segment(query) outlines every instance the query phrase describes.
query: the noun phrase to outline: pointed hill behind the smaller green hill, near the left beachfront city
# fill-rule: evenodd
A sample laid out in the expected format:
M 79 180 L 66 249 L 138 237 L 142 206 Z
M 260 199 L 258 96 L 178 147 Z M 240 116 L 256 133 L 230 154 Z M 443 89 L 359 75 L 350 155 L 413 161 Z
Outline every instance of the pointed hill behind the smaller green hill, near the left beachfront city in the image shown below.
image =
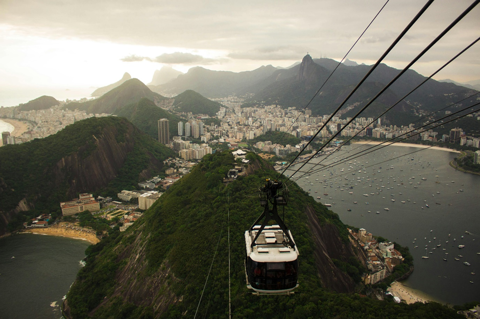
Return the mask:
M 154 102 L 167 99 L 160 94 L 150 91 L 139 79 L 132 78 L 113 90 L 108 91 L 98 99 L 89 100 L 84 103 L 68 103 L 65 108 L 70 110 L 83 110 L 94 114 L 112 114 L 126 105 L 138 102 L 142 97 L 146 97 Z

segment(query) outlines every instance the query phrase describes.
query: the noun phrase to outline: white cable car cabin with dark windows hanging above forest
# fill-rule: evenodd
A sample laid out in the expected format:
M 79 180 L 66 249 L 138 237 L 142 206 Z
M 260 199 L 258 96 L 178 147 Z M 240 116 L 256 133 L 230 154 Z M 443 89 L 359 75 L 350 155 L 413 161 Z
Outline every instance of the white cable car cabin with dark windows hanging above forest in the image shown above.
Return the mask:
M 247 288 L 255 290 L 254 294 L 293 294 L 298 287 L 298 249 L 285 246 L 285 235 L 278 225 L 266 226 L 254 245 L 260 226 L 245 232 L 247 256 L 245 271 Z M 288 231 L 290 238 L 292 233 Z

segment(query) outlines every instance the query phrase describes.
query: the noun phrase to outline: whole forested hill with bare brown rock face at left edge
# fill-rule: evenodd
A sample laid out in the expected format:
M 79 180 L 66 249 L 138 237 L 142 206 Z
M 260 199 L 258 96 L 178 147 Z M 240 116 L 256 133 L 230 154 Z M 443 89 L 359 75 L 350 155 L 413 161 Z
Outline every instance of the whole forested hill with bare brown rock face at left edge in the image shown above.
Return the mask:
M 57 134 L 0 148 L 0 234 L 20 210 L 57 211 L 79 193 L 132 189 L 173 152 L 124 118 L 89 118 Z

